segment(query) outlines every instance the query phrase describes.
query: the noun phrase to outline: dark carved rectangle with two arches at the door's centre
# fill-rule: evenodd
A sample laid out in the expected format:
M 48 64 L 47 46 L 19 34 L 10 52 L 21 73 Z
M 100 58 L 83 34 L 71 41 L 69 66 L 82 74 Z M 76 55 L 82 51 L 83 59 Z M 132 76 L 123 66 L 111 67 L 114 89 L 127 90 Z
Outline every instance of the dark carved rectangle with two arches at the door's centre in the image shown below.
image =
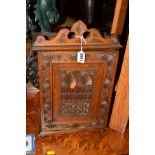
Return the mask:
M 60 117 L 88 116 L 95 91 L 96 68 L 58 68 L 58 94 Z M 91 73 L 90 73 L 91 72 Z M 92 75 L 93 74 L 93 75 Z

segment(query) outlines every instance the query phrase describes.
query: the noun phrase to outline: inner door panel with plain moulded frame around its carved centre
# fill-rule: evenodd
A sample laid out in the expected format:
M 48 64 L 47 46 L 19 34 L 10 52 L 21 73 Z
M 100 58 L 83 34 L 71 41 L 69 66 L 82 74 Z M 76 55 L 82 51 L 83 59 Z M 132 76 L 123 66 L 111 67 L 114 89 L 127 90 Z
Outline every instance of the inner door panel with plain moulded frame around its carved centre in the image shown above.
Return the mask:
M 101 64 L 53 64 L 53 122 L 97 120 Z

